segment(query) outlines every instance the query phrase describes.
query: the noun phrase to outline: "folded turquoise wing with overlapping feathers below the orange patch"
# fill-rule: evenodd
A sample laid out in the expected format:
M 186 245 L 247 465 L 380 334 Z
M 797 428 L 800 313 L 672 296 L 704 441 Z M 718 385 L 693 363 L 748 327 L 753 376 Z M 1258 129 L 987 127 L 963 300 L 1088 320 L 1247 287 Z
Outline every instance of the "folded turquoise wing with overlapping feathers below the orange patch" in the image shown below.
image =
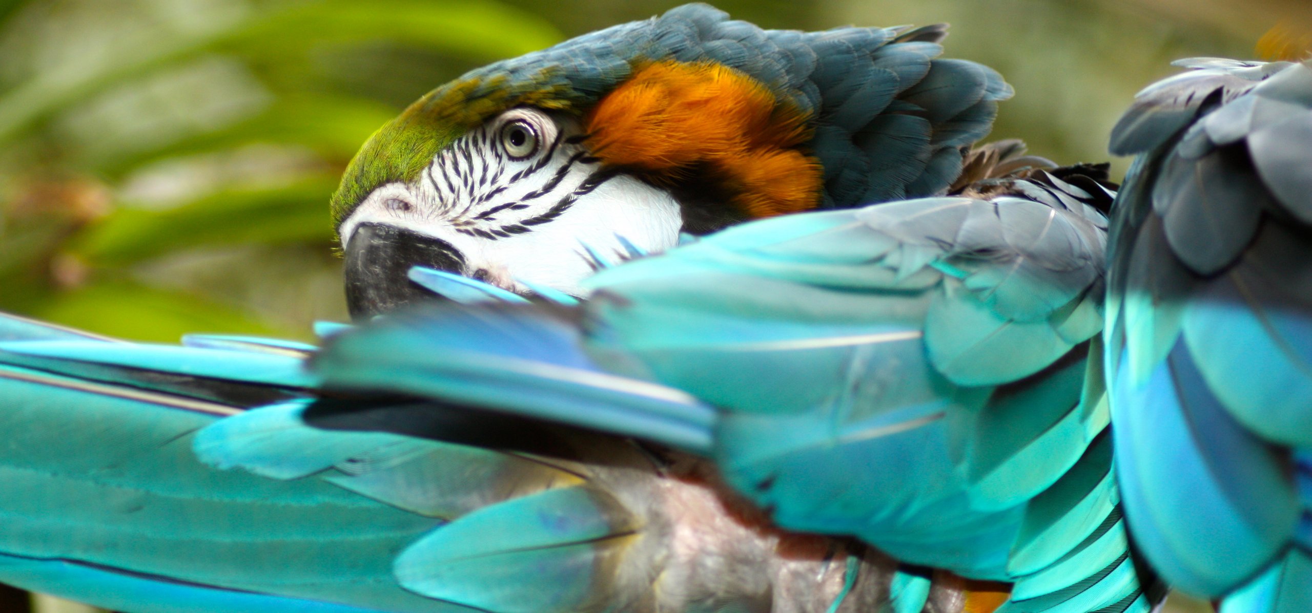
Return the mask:
M 1072 198 L 1089 196 L 1065 189 Z M 731 483 L 773 508 L 782 525 L 855 533 L 913 563 L 1014 580 L 1021 570 L 1036 572 L 1084 546 L 1115 503 L 1107 498 L 1103 444 L 1096 462 L 1101 498 L 1080 498 L 1096 508 L 1052 494 L 1071 502 L 1061 510 L 1069 515 L 1047 511 L 1048 523 L 1022 528 L 1031 500 L 1057 491 L 1055 483 L 1107 424 L 1101 392 L 1082 386 L 1084 354 L 1073 352 L 1098 331 L 1097 293 L 1089 288 L 1101 280 L 1105 223 L 1092 208 L 1050 202 L 941 198 L 729 229 L 596 276 L 590 341 L 632 354 L 657 379 L 724 407 L 715 457 Z M 997 224 L 1000 212 L 1015 221 Z M 1052 215 L 1057 224 L 1027 224 Z M 991 266 L 1010 272 L 989 276 Z M 981 279 L 974 288 L 958 280 L 972 275 Z M 1056 297 L 1036 301 L 1044 292 Z M 935 317 L 939 304 L 974 304 L 992 314 L 985 324 L 955 312 Z M 1025 326 L 1042 337 L 1025 335 Z M 992 352 L 980 351 L 981 359 L 955 368 L 958 362 L 935 360 L 947 354 L 935 354 L 935 342 L 996 337 L 1000 329 L 1001 339 Z M 1000 354 L 1009 358 L 998 360 Z M 1068 354 L 1069 362 L 1047 371 Z M 887 364 L 899 368 L 886 372 Z M 1008 393 L 977 388 L 1017 380 L 1025 382 Z M 1043 407 L 1025 410 L 1031 403 Z M 983 415 L 997 419 L 1006 436 L 976 430 Z M 1018 428 L 1018 420 L 1033 422 Z M 1013 574 L 1009 555 L 1022 529 L 1061 538 L 1052 538 L 1047 553 L 1029 554 L 1035 562 Z M 1050 600 L 1110 604 L 1136 596 L 1138 579 L 1127 578 L 1139 575 L 1118 566 L 1123 555 L 1120 541 L 1111 561 L 1088 558 L 1096 566 L 1078 568 L 1077 579 L 1102 571 L 1111 579 L 1093 582 L 1093 592 L 1075 588 Z M 1071 578 L 1063 589 L 1076 582 Z

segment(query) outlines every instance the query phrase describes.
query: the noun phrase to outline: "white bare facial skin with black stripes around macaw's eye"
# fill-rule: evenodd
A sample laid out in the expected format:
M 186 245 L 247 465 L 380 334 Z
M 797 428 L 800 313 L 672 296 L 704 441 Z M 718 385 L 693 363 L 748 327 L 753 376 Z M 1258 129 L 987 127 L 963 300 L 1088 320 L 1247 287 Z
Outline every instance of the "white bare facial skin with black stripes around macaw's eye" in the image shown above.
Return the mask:
M 466 276 L 525 292 L 522 282 L 583 295 L 584 245 L 618 261 L 619 237 L 647 253 L 678 242 L 682 215 L 666 191 L 602 168 L 576 122 L 512 109 L 440 152 L 412 183 L 379 186 L 338 228 L 345 248 L 374 223 L 451 244 Z

